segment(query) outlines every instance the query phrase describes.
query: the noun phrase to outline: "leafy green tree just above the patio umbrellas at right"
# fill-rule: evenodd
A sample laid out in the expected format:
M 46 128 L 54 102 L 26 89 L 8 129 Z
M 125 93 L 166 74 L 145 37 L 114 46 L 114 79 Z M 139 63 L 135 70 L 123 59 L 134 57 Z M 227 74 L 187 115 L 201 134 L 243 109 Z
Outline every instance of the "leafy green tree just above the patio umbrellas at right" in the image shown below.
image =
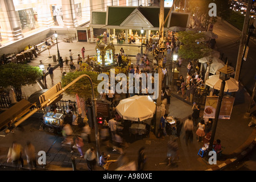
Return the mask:
M 185 60 L 197 60 L 209 54 L 210 49 L 204 43 L 204 35 L 194 31 L 179 32 L 181 46 L 178 55 Z

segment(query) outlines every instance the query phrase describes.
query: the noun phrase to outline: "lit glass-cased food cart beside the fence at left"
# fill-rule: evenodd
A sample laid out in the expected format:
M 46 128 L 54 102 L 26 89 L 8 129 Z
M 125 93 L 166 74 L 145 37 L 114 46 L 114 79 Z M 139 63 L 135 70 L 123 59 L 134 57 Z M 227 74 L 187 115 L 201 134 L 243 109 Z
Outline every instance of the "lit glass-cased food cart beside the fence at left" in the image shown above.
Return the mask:
M 50 133 L 61 132 L 63 127 L 64 117 L 63 114 L 48 112 L 43 115 L 43 127 L 47 127 Z

